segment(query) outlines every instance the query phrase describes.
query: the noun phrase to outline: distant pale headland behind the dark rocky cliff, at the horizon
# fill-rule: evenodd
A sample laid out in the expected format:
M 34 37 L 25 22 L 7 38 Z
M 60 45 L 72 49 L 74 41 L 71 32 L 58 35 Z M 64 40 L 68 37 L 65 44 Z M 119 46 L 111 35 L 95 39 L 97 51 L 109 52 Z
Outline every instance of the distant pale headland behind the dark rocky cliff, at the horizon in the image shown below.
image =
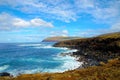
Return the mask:
M 72 39 L 79 39 L 80 37 L 48 37 L 44 39 L 42 42 L 60 42 L 60 41 L 66 41 L 66 40 L 72 40 Z

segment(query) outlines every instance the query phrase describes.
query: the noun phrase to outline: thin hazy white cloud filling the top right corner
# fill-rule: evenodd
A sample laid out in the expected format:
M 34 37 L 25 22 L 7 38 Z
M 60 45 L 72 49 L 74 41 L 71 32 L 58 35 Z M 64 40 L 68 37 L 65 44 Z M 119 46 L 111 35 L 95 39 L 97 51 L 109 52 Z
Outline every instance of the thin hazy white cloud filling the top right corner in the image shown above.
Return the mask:
M 113 22 L 120 16 L 120 1 L 99 1 L 99 0 L 76 0 L 76 7 L 79 13 L 90 14 L 94 21 Z M 119 19 L 120 20 L 120 19 Z

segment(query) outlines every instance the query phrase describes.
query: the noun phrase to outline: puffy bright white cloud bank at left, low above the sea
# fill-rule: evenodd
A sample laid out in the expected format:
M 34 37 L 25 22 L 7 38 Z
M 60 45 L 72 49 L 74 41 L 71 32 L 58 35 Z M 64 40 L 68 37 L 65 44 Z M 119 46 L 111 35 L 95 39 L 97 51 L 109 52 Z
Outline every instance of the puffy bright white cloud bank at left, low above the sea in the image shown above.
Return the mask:
M 0 14 L 0 24 L 1 30 L 10 30 L 23 27 L 54 27 L 51 22 L 44 21 L 40 18 L 24 20 L 7 13 Z

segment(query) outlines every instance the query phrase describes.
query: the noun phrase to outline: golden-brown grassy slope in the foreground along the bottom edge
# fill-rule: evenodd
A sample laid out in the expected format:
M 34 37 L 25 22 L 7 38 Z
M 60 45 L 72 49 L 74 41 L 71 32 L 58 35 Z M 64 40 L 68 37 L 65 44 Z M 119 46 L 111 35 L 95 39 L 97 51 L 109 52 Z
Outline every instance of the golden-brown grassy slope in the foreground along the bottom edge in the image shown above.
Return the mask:
M 0 77 L 0 80 L 120 80 L 120 58 L 64 73 L 23 74 L 15 78 Z

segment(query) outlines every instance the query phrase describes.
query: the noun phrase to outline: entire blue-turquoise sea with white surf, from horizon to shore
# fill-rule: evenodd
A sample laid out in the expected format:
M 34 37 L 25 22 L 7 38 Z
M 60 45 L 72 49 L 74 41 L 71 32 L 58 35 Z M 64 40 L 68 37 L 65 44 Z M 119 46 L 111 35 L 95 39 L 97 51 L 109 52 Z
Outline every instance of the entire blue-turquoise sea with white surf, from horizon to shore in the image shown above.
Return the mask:
M 13 75 L 38 72 L 64 72 L 79 67 L 74 57 L 60 53 L 74 52 L 52 47 L 54 43 L 0 43 L 0 72 Z

